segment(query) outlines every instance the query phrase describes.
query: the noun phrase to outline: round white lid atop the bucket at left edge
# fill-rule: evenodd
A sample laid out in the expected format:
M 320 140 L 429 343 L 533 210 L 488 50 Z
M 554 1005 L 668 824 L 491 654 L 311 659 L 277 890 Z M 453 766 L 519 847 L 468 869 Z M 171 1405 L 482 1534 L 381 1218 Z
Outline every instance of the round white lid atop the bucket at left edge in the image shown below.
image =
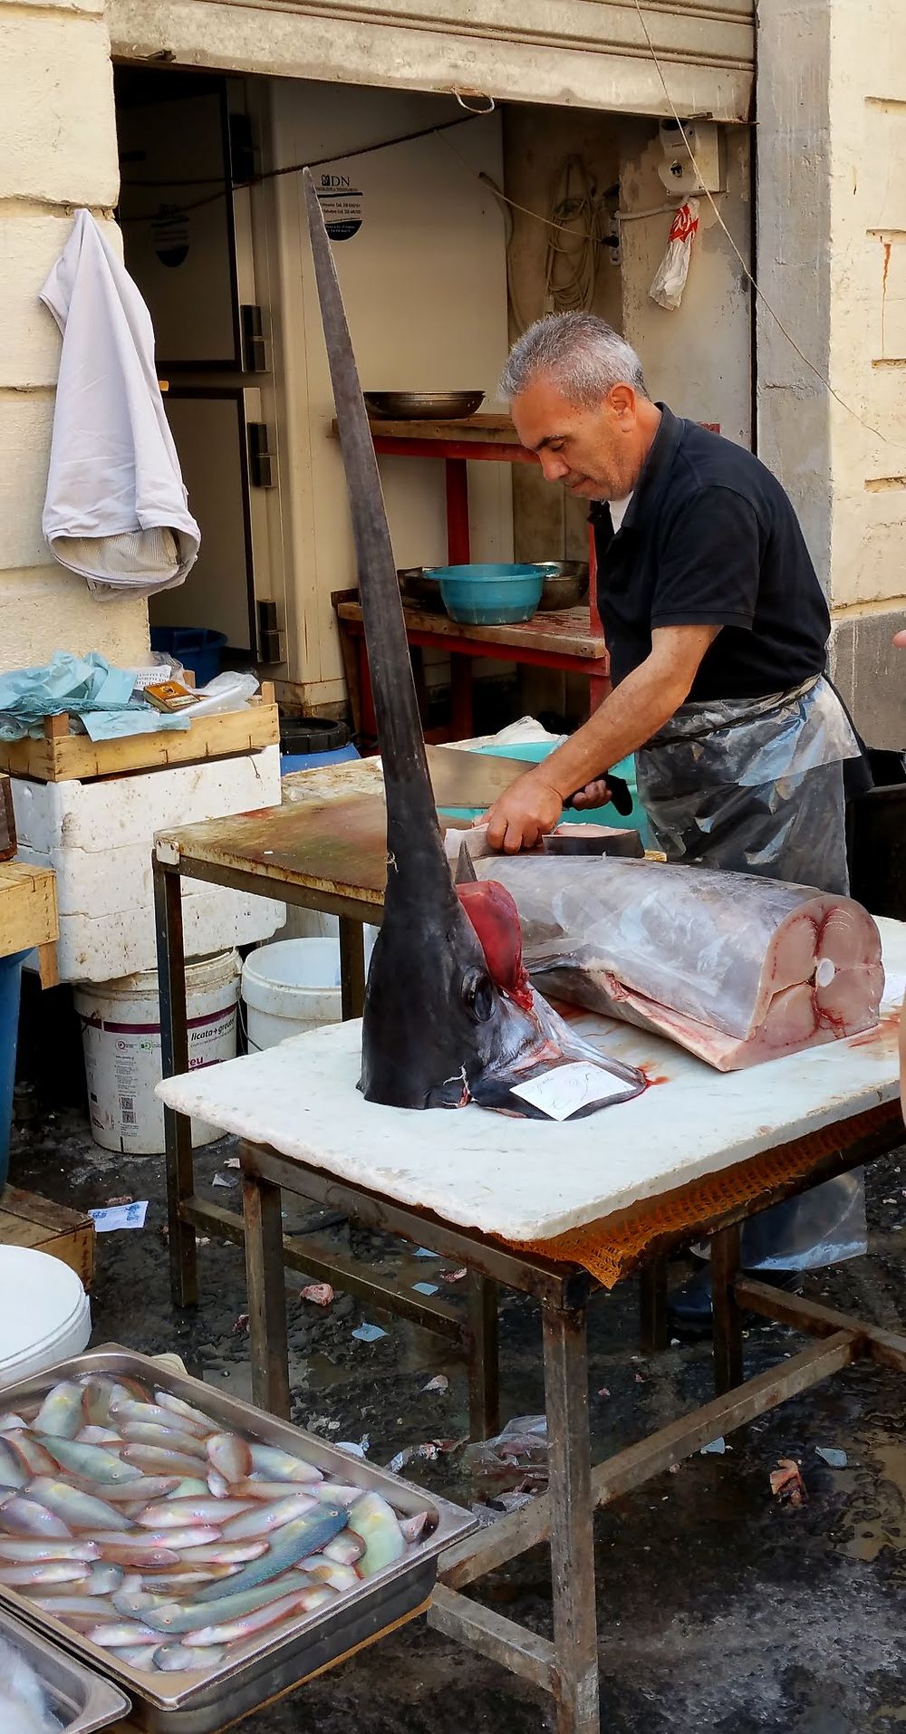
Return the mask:
M 85 1290 L 68 1264 L 33 1247 L 0 1247 L 0 1377 L 66 1339 L 85 1313 Z

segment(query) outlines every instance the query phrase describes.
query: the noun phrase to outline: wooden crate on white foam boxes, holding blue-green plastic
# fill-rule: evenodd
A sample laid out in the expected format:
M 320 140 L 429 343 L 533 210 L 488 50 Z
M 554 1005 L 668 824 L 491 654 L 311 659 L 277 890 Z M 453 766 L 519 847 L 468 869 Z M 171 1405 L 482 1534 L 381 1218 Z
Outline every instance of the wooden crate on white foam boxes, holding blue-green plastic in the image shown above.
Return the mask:
M 118 740 L 89 740 L 69 733 L 68 716 L 47 716 L 38 740 L 0 742 L 0 770 L 36 782 L 85 782 L 121 777 L 128 772 L 160 770 L 167 765 L 196 765 L 203 759 L 255 753 L 279 740 L 279 713 L 272 687 L 245 711 L 196 716 L 189 728 L 165 728 L 153 735 L 121 735 Z

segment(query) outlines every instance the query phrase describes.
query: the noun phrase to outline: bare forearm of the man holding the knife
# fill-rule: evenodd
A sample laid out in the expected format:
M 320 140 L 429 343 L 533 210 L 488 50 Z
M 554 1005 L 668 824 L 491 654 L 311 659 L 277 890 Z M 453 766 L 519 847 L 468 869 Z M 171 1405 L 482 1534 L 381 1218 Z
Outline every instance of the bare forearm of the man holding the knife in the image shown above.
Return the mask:
M 661 669 L 642 662 L 607 694 L 594 716 L 543 761 L 543 780 L 566 801 L 576 789 L 602 777 L 627 753 L 635 753 L 663 728 L 686 699 L 682 685 L 665 681 Z

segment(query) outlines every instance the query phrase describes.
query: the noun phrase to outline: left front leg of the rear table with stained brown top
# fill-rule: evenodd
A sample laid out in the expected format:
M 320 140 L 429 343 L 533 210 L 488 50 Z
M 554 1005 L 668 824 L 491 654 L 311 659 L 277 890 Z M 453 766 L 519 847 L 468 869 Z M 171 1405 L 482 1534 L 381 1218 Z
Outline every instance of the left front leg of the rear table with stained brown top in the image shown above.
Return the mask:
M 163 1077 L 189 1070 L 186 1013 L 186 950 L 182 945 L 182 879 L 154 857 L 154 921 L 158 938 L 160 1046 Z M 198 1306 L 196 1235 L 182 1221 L 181 1203 L 194 1193 L 193 1124 L 184 1113 L 163 1110 L 167 1151 L 167 1222 L 170 1236 L 170 1290 L 174 1304 Z

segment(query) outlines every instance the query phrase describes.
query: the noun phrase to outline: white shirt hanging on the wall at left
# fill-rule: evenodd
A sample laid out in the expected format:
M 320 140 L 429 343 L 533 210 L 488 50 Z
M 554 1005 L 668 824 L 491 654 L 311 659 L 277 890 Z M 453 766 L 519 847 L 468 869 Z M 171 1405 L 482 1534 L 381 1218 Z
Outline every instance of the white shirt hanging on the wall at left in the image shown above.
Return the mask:
M 90 212 L 40 298 L 62 331 L 42 529 L 99 600 L 182 584 L 194 522 L 154 369 L 151 314 Z

